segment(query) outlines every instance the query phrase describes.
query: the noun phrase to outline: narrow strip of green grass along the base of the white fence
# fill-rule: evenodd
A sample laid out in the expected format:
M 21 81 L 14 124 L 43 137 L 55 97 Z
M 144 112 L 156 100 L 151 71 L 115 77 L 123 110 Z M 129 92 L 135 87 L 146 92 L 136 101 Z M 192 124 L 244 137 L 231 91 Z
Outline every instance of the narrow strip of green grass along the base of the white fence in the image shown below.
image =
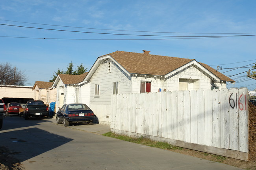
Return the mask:
M 160 149 L 165 149 L 165 150 L 177 150 L 177 149 L 184 150 L 184 148 L 181 148 L 178 146 L 173 146 L 166 142 L 152 141 L 152 140 L 144 138 L 144 137 L 133 138 L 133 137 L 125 136 L 125 135 L 117 135 L 112 132 L 104 133 L 103 135 L 108 136 L 108 137 L 113 137 L 116 139 L 120 139 L 123 141 L 128 141 L 128 142 L 137 143 L 137 144 L 143 144 L 143 145 L 154 147 L 154 148 L 160 148 Z

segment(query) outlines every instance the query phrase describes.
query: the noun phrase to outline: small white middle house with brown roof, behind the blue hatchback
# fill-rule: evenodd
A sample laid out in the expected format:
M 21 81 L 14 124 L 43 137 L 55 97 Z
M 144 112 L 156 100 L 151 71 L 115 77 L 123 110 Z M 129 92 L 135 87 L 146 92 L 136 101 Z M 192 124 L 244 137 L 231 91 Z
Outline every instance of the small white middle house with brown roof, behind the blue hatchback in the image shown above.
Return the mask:
M 89 91 L 88 85 L 78 86 L 78 83 L 82 82 L 87 73 L 83 73 L 81 75 L 68 75 L 68 74 L 59 74 L 52 84 L 52 88 L 56 88 L 56 108 L 61 108 L 63 104 L 68 103 L 85 103 L 89 105 L 89 97 L 86 95 Z M 83 96 L 87 96 L 85 99 Z

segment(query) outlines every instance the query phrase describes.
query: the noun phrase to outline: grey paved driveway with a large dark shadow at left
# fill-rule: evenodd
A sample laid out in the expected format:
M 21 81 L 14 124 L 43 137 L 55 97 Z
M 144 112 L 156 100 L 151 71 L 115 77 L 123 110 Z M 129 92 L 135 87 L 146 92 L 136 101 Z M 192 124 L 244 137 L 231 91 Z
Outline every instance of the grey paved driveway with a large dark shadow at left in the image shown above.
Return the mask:
M 104 124 L 64 127 L 56 119 L 6 117 L 0 144 L 26 170 L 241 170 L 175 152 L 102 136 Z

